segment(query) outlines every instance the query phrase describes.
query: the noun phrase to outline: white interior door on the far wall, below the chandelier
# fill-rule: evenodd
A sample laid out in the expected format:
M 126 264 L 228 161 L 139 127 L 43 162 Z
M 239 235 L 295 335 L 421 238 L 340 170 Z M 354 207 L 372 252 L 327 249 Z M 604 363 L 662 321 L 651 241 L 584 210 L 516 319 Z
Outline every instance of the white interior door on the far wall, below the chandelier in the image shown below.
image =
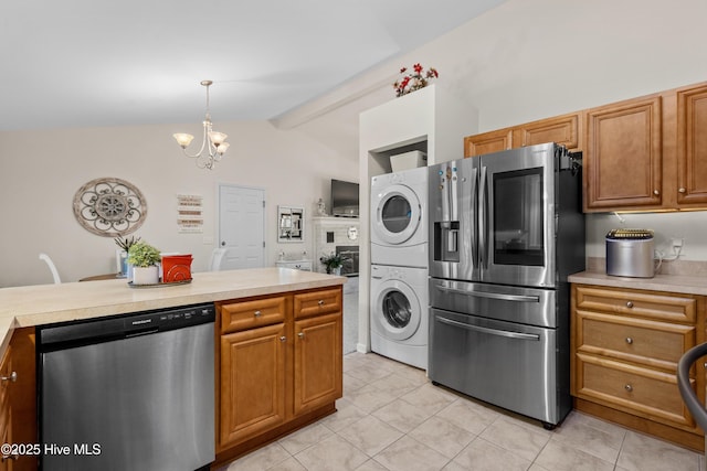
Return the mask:
M 265 266 L 265 190 L 219 185 L 222 270 Z

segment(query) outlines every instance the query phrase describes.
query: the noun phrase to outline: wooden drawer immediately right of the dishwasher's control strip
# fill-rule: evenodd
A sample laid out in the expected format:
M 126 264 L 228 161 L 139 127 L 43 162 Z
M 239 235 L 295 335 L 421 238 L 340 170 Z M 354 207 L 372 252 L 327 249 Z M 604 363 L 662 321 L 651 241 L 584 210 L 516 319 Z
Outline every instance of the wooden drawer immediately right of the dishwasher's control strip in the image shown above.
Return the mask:
M 220 304 L 221 333 L 284 322 L 286 306 L 284 296 Z

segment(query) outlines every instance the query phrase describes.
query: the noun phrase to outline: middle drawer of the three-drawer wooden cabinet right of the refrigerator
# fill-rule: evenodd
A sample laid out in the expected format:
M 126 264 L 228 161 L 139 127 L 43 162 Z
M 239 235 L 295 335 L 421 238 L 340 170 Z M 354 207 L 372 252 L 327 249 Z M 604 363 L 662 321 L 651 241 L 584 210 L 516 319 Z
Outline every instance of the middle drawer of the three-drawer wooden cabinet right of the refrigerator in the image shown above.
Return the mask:
M 693 325 L 671 324 L 577 311 L 577 350 L 651 367 L 677 371 L 683 353 L 695 345 Z

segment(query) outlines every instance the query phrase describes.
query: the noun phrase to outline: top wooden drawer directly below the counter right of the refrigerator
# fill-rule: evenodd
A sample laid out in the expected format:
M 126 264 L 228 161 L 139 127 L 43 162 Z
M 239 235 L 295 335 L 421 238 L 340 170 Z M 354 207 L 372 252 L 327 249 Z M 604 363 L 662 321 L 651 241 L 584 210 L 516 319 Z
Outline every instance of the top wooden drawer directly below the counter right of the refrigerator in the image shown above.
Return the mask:
M 694 323 L 696 306 L 696 300 L 688 296 L 577 287 L 578 310 L 594 310 L 668 322 Z

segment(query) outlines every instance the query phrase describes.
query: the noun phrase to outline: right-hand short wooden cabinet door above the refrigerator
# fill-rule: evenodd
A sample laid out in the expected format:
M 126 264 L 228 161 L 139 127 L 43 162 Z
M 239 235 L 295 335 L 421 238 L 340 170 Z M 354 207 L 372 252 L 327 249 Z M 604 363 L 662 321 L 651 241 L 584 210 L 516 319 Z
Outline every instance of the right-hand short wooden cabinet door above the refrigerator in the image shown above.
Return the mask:
M 579 148 L 580 114 L 558 116 L 520 125 L 514 130 L 514 147 L 557 142 L 568 149 Z

